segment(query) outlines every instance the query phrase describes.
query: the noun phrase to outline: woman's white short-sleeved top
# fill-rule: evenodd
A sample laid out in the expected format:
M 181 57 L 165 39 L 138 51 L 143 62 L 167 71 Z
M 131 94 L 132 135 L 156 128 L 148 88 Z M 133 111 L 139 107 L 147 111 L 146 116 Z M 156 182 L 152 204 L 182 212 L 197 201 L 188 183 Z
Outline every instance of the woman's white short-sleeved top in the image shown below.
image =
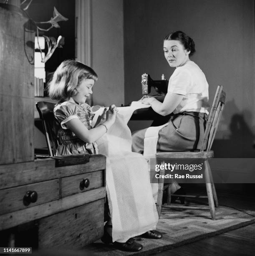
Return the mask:
M 174 114 L 188 111 L 208 113 L 208 83 L 205 74 L 193 61 L 177 67 L 169 78 L 168 92 L 184 95 L 173 111 Z

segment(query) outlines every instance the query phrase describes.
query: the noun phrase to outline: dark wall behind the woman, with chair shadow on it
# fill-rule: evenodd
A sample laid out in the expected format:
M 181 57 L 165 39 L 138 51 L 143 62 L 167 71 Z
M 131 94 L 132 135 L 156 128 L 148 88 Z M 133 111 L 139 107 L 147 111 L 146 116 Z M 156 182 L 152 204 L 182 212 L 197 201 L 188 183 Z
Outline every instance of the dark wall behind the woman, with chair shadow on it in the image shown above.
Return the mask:
M 142 73 L 170 77 L 163 38 L 176 30 L 194 39 L 191 59 L 205 72 L 210 102 L 218 84 L 227 93 L 216 157 L 254 157 L 253 0 L 124 0 L 125 103 L 141 98 Z

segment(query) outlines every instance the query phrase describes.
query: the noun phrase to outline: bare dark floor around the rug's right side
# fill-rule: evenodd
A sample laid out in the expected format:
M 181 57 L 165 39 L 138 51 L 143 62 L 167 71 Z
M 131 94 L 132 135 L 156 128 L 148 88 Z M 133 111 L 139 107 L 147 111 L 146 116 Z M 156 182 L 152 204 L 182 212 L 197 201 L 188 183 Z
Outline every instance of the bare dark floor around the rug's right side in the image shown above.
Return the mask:
M 254 185 L 254 184 L 252 184 Z M 219 203 L 242 210 L 255 210 L 255 198 L 250 196 L 218 193 Z M 255 224 L 229 231 L 227 233 L 205 238 L 197 242 L 162 251 L 157 256 L 241 256 L 255 255 Z

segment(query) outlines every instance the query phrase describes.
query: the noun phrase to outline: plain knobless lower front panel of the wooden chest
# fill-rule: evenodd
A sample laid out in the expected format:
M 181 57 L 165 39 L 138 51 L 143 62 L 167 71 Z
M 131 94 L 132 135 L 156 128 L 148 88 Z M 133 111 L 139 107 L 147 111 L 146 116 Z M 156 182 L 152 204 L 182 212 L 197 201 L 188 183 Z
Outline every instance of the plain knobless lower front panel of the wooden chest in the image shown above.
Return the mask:
M 104 233 L 104 199 L 38 220 L 38 248 L 79 249 Z

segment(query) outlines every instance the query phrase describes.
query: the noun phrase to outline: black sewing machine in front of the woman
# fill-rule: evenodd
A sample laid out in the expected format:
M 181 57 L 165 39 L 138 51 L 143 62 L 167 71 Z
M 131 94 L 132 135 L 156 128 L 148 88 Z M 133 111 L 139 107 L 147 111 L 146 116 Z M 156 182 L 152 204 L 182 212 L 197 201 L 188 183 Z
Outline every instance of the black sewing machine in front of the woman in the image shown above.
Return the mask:
M 143 97 L 146 98 L 147 95 L 151 92 L 151 87 L 154 87 L 155 91 L 158 94 L 167 93 L 168 80 L 164 79 L 164 74 L 162 74 L 161 80 L 151 79 L 149 74 L 141 75 L 141 88 Z

